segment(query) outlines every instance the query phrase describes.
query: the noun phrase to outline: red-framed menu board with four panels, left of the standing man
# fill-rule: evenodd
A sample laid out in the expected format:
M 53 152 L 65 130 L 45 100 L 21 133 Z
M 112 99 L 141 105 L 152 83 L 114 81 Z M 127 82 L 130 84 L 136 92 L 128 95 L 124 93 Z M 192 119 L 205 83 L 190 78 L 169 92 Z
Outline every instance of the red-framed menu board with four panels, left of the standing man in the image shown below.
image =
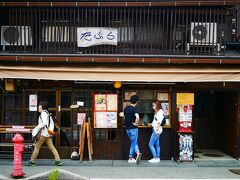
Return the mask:
M 117 128 L 118 95 L 94 95 L 94 128 Z

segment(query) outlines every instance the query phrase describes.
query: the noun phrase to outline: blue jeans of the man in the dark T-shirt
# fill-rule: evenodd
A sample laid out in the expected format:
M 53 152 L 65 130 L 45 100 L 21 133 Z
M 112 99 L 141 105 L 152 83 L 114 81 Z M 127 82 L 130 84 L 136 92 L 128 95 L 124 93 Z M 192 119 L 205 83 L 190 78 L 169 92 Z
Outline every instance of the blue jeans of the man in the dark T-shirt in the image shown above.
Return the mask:
M 138 139 L 138 129 L 126 129 L 127 135 L 131 141 L 131 147 L 130 147 L 130 151 L 129 151 L 129 157 L 133 157 L 134 153 L 139 152 L 139 147 L 138 147 L 138 143 L 137 143 L 137 139 Z

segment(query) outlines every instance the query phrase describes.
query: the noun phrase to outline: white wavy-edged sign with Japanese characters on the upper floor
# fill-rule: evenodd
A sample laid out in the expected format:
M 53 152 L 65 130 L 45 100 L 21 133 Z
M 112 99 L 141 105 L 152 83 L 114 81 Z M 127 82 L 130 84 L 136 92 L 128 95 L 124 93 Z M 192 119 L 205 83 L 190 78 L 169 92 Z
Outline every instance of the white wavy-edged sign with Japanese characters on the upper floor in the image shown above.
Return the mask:
M 96 45 L 117 45 L 116 28 L 77 28 L 78 47 L 89 47 Z

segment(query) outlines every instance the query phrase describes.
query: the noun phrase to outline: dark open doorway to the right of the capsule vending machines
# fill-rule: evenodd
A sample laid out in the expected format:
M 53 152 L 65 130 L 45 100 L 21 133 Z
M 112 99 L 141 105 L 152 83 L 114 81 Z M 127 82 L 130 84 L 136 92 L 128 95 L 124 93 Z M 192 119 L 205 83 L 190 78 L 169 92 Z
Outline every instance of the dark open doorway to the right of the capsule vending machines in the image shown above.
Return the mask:
M 198 159 L 237 155 L 237 93 L 195 93 L 195 156 Z

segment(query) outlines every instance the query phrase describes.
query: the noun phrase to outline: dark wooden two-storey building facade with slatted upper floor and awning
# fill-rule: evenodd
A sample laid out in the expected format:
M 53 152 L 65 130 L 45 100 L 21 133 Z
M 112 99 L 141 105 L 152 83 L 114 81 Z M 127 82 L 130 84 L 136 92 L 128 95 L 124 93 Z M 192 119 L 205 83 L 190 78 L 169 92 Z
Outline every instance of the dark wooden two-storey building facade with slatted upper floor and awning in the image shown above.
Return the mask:
M 151 101 L 165 93 L 169 123 L 161 158 L 177 159 L 176 94 L 191 92 L 195 148 L 239 157 L 240 1 L 11 0 L 0 9 L 1 127 L 36 125 L 29 95 L 48 99 L 63 131 L 55 145 L 69 158 L 79 143 L 77 113 L 94 123 L 93 95 L 118 94 L 121 112 L 126 94 L 135 92 L 144 107 L 139 144 L 148 159 Z M 115 81 L 122 86 L 114 88 Z M 70 109 L 77 101 L 84 106 Z M 117 122 L 117 128 L 93 128 L 95 159 L 127 159 L 123 119 Z M 1 142 L 12 135 L 2 133 Z M 31 142 L 30 134 L 25 139 Z

